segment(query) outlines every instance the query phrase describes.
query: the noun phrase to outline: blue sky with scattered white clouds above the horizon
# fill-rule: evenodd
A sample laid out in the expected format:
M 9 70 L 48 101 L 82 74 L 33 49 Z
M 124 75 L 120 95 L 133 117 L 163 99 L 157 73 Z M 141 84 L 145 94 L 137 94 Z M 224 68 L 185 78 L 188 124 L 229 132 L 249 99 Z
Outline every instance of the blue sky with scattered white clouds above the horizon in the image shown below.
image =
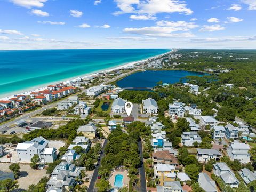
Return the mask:
M 0 0 L 0 49 L 255 49 L 255 18 L 255 0 Z

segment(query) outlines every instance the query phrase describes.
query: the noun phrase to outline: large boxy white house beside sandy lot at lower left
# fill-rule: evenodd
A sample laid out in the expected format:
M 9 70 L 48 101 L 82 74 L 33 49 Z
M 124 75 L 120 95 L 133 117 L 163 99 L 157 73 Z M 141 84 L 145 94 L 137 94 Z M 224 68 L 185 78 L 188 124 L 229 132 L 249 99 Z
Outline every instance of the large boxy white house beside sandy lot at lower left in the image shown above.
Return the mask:
M 18 143 L 16 151 L 20 161 L 30 162 L 34 155 L 38 155 L 41 163 L 52 163 L 57 159 L 57 150 L 48 147 L 49 141 L 43 137 L 34 138 L 31 141 Z

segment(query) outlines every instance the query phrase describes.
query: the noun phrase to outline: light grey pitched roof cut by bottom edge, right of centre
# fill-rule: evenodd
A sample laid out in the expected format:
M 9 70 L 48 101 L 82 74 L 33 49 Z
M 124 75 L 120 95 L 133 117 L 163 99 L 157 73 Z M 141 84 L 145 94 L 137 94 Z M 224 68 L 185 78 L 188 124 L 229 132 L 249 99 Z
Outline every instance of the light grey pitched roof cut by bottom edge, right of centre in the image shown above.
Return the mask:
M 198 178 L 199 186 L 204 189 L 205 192 L 217 192 L 217 186 L 207 173 L 199 173 Z

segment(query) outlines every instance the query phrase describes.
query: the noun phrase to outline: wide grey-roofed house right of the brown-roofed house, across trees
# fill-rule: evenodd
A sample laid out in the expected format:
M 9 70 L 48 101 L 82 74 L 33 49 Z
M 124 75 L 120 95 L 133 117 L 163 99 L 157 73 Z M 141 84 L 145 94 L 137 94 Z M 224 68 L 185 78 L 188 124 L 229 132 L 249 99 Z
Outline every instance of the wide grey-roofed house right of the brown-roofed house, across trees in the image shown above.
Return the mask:
M 221 153 L 216 149 L 196 149 L 196 158 L 199 162 L 207 163 L 210 159 L 220 160 Z

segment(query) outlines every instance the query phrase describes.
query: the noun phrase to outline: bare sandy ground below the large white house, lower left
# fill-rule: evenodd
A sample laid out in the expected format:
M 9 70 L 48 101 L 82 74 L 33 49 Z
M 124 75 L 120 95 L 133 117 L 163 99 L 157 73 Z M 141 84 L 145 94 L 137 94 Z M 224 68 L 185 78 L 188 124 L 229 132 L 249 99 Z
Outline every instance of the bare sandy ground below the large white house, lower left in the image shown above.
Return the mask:
M 9 166 L 11 163 L 0 163 L 0 170 L 5 172 L 10 172 Z M 19 188 L 26 190 L 29 185 L 37 184 L 41 178 L 48 176 L 46 170 L 33 170 L 29 165 L 20 164 L 20 177 L 17 179 L 19 183 Z

